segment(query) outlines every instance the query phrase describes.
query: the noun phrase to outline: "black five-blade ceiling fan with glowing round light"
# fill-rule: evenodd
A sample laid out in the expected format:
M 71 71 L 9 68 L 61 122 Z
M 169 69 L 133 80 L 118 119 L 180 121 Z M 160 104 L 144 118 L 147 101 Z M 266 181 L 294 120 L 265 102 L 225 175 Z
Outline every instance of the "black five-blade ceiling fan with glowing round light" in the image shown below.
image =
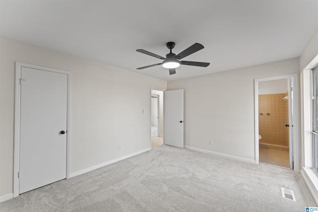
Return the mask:
M 183 52 L 180 52 L 177 55 L 172 53 L 172 49 L 175 46 L 174 42 L 168 42 L 166 44 L 166 46 L 168 49 L 170 49 L 170 53 L 167 54 L 165 56 L 165 58 L 161 57 L 159 55 L 156 55 L 154 53 L 148 52 L 146 50 L 143 50 L 143 49 L 137 49 L 136 50 L 137 52 L 140 52 L 140 53 L 143 53 L 143 54 L 155 57 L 155 58 L 159 58 L 160 60 L 164 60 L 162 63 L 154 64 L 154 65 L 150 65 L 150 66 L 144 66 L 144 67 L 140 67 L 137 69 L 141 70 L 141 69 L 147 69 L 150 67 L 162 65 L 163 68 L 169 69 L 169 74 L 175 74 L 175 68 L 179 67 L 180 65 L 199 66 L 199 67 L 208 67 L 210 65 L 210 63 L 193 62 L 193 61 L 180 61 L 182 58 L 185 58 L 185 57 L 203 49 L 204 46 L 199 44 L 199 43 L 193 44 L 192 46 L 190 46 L 189 48 L 187 48 Z

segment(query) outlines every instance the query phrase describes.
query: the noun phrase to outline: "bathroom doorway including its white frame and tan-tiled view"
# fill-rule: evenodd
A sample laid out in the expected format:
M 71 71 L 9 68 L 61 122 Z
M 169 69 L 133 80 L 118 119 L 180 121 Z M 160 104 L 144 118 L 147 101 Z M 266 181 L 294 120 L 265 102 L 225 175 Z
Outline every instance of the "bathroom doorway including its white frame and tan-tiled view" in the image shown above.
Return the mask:
M 293 75 L 255 79 L 256 163 L 295 167 L 294 81 Z

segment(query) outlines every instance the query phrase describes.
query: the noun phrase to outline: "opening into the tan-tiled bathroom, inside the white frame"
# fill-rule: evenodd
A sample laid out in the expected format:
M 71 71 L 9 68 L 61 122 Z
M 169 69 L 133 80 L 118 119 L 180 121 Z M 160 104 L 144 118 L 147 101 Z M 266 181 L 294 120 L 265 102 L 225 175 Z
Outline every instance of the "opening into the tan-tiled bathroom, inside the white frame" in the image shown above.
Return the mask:
M 259 162 L 293 168 L 289 135 L 292 84 L 288 78 L 258 83 Z M 292 94 L 292 93 L 291 93 Z

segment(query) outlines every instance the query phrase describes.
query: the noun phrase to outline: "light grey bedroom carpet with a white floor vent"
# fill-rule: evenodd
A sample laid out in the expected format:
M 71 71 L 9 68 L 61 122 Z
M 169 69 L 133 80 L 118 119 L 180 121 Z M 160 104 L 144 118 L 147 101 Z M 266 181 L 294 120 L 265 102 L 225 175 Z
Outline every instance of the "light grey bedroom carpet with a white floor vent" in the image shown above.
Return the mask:
M 292 189 L 296 202 L 284 199 Z M 162 145 L 0 203 L 5 212 L 302 212 L 316 207 L 292 170 Z

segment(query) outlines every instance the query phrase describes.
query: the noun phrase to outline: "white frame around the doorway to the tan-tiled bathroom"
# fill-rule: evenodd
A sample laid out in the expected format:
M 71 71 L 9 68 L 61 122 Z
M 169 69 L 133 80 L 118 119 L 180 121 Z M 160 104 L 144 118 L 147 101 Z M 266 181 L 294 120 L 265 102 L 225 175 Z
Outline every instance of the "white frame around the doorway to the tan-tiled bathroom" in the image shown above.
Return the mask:
M 273 76 L 273 77 L 266 77 L 266 78 L 258 78 L 254 79 L 254 112 L 255 112 L 255 163 L 259 163 L 259 142 L 258 142 L 258 82 L 261 81 L 269 81 L 269 80 L 276 80 L 276 79 L 289 79 L 293 80 L 294 86 L 294 102 L 293 102 L 293 109 L 294 109 L 294 127 L 293 127 L 293 154 L 294 154 L 294 171 L 300 173 L 300 158 L 299 158 L 299 117 L 298 117 L 298 74 L 288 74 L 288 75 L 281 75 L 281 76 Z

